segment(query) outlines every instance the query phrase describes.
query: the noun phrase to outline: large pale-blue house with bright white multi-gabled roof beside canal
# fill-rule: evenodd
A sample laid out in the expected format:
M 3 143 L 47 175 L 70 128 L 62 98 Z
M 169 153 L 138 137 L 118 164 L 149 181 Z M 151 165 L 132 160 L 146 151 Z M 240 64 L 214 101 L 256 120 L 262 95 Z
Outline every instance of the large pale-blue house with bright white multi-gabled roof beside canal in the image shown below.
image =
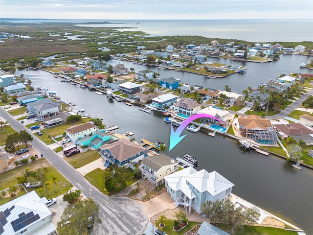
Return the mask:
M 183 205 L 186 211 L 191 208 L 201 214 L 201 205 L 206 201 L 230 199 L 233 183 L 216 171 L 197 171 L 188 167 L 164 177 L 165 187 L 175 206 Z

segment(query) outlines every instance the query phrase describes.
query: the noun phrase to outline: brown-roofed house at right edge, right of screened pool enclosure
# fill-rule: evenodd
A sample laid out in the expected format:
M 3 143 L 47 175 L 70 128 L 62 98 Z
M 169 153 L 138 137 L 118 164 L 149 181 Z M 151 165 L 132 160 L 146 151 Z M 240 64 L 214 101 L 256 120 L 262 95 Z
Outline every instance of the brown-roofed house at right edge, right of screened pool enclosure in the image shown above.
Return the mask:
M 303 140 L 306 145 L 313 145 L 313 130 L 301 123 L 274 124 L 274 130 L 281 136 L 293 137 L 296 141 Z

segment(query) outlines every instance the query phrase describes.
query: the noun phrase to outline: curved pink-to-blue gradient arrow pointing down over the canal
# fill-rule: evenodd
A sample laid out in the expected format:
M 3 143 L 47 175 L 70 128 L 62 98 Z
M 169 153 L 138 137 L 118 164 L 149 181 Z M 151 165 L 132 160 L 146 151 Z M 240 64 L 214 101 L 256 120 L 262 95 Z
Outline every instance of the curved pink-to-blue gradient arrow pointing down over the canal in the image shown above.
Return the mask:
M 170 148 L 169 151 L 171 151 L 180 141 L 182 141 L 182 139 L 184 139 L 186 137 L 186 135 L 180 136 L 181 132 L 185 129 L 185 127 L 192 122 L 195 119 L 198 118 L 213 118 L 215 120 L 221 121 L 219 118 L 215 118 L 212 115 L 208 115 L 208 114 L 195 114 L 193 116 L 190 116 L 189 118 L 187 118 L 186 120 L 184 120 L 183 122 L 181 122 L 181 124 L 179 125 L 179 127 L 177 128 L 176 131 L 174 131 L 173 128 L 173 124 L 171 124 L 171 135 L 170 135 Z

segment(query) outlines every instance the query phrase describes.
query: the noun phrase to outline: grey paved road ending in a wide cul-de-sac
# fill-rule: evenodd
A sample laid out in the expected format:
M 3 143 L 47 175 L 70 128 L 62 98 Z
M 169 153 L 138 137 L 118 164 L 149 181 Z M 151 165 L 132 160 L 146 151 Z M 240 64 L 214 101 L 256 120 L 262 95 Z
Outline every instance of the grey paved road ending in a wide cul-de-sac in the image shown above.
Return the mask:
M 19 121 L 15 120 L 2 107 L 1 116 L 9 121 L 16 131 L 26 130 Z M 28 131 L 29 132 L 29 131 Z M 86 197 L 93 198 L 100 206 L 101 225 L 93 228 L 94 235 L 141 235 L 148 224 L 148 218 L 142 213 L 141 206 L 127 197 L 110 198 L 89 184 L 72 166 L 58 157 L 44 142 L 29 132 L 33 146 L 42 153 L 45 159 L 52 164 L 76 188 L 81 189 Z

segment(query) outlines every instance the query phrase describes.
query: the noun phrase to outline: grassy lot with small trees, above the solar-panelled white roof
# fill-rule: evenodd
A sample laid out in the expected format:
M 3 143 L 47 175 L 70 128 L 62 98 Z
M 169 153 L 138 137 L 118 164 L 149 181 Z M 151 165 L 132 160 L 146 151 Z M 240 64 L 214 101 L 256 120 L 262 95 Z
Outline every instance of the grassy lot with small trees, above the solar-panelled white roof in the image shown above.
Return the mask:
M 0 174 L 0 190 L 3 190 L 5 188 L 10 188 L 11 186 L 18 184 L 18 181 L 16 178 L 19 176 L 22 176 L 23 172 L 25 172 L 25 169 L 27 167 L 35 171 L 38 168 L 41 168 L 41 164 L 43 164 L 44 167 L 47 167 L 46 179 L 48 181 L 52 178 L 52 176 L 58 177 L 60 179 L 60 181 L 58 181 L 56 185 L 56 192 L 54 190 L 53 184 L 50 186 L 47 186 L 47 191 L 45 187 L 43 187 L 44 190 L 42 191 L 40 190 L 40 188 L 36 188 L 36 189 L 27 188 L 27 190 L 36 190 L 38 195 L 45 196 L 46 198 L 56 197 L 67 192 L 68 189 L 70 188 L 70 183 L 44 158 L 41 160 L 30 162 L 28 164 L 24 164 L 21 167 L 13 168 L 9 171 L 1 173 Z

